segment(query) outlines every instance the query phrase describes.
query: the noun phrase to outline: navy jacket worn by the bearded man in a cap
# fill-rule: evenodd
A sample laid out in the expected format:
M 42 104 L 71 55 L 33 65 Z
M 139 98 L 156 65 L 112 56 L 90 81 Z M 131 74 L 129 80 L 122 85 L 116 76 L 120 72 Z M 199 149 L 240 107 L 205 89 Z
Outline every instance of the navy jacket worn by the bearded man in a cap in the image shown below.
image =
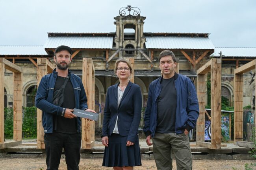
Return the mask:
M 52 104 L 54 86 L 58 73 L 56 69 L 48 75 L 45 75 L 37 88 L 35 96 L 35 107 L 43 111 L 43 128 L 45 133 L 52 133 L 53 131 L 53 115 L 64 116 L 66 108 Z M 82 80 L 77 75 L 74 75 L 69 70 L 69 79 L 74 88 L 75 108 L 85 110 L 87 106 L 87 98 L 83 88 Z M 68 100 L 68 99 L 64 99 Z M 77 132 L 80 132 L 81 119 L 77 117 Z

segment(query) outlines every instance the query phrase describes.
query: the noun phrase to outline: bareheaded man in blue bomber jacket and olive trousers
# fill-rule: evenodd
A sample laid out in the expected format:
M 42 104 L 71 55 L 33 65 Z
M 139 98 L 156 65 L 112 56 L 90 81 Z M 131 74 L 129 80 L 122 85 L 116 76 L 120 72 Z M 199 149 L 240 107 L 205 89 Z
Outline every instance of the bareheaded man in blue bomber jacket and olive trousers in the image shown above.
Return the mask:
M 176 57 L 172 51 L 162 51 L 158 61 L 163 75 L 149 86 L 143 128 L 146 142 L 153 144 L 158 170 L 172 170 L 171 149 L 177 170 L 191 170 L 188 133 L 195 128 L 199 115 L 195 86 L 188 77 L 175 73 Z

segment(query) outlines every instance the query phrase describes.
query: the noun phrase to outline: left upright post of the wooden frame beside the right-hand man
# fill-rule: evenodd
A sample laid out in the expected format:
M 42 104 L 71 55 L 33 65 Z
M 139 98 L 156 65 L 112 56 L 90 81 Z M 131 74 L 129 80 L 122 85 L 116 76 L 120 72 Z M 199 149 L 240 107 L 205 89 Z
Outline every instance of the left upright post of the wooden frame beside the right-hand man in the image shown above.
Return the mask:
M 197 119 L 197 142 L 204 142 L 206 80 L 207 74 L 197 75 L 197 97 L 199 104 L 199 117 Z

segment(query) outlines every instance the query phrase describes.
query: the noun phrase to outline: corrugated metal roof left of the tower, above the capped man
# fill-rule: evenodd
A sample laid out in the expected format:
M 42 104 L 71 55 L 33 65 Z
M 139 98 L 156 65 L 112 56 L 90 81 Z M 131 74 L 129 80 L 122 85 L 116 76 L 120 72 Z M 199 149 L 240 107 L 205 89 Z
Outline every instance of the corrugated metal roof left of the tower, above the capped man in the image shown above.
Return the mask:
M 45 48 L 56 48 L 60 45 L 70 48 L 111 49 L 113 37 L 48 37 Z

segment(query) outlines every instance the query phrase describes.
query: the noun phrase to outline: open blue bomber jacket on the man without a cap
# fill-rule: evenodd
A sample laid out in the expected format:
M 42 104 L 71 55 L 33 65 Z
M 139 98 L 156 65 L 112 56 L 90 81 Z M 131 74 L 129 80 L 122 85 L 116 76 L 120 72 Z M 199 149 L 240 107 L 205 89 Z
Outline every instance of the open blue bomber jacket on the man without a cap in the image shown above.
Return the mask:
M 161 92 L 162 77 L 152 81 L 148 90 L 148 102 L 145 110 L 143 131 L 146 136 L 154 137 L 156 132 L 157 122 L 157 102 Z M 187 129 L 190 131 L 195 128 L 197 118 L 199 116 L 199 105 L 197 100 L 197 92 L 191 79 L 184 75 L 174 74 L 174 85 L 176 88 L 176 121 L 175 133 L 184 133 Z

